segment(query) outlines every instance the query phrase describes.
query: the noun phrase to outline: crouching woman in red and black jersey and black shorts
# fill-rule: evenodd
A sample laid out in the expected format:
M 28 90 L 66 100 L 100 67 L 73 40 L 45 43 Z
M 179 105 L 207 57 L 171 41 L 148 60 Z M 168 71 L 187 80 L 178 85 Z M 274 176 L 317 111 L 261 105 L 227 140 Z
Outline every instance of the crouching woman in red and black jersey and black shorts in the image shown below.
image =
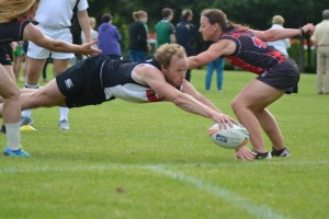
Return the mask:
M 268 46 L 265 42 L 313 34 L 314 25 L 261 32 L 229 22 L 226 14 L 218 9 L 202 11 L 200 23 L 198 31 L 203 39 L 214 44 L 204 53 L 189 57 L 189 69 L 225 57 L 227 62 L 258 74 L 231 103 L 240 124 L 250 134 L 253 148 L 250 151 L 246 146 L 240 147 L 236 157 L 242 160 L 290 157 L 279 125 L 266 107 L 284 93 L 297 92 L 299 69 L 293 59 Z M 264 146 L 261 128 L 272 142 L 272 153 Z

